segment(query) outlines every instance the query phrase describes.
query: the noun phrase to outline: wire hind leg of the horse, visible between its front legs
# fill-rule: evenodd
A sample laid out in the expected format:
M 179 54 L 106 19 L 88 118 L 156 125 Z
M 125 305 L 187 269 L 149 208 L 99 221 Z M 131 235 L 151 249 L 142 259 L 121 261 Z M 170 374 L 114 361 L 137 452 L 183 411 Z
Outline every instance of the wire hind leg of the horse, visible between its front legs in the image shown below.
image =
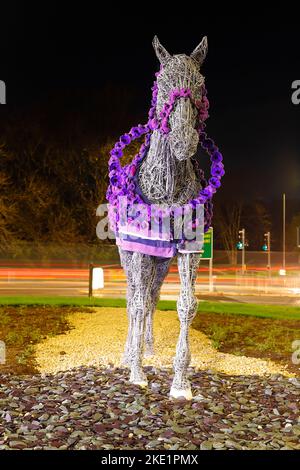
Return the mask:
M 154 341 L 153 341 L 153 316 L 159 300 L 160 289 L 168 274 L 172 258 L 156 258 L 155 273 L 153 279 L 153 287 L 147 305 L 146 312 L 146 325 L 145 325 L 145 357 L 153 356 L 154 354 Z

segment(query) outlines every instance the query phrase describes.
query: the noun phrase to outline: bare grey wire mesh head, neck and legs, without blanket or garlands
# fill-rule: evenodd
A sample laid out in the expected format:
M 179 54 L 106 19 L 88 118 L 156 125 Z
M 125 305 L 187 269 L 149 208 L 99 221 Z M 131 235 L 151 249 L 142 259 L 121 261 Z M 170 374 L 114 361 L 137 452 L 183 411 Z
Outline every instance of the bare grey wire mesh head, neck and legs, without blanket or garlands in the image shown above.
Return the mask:
M 157 78 L 156 117 L 168 112 L 166 131 L 153 129 L 148 152 L 139 166 L 137 181 L 145 200 L 151 204 L 182 206 L 193 199 L 201 183 L 193 163 L 199 143 L 196 129 L 204 77 L 200 66 L 206 56 L 206 38 L 191 56 L 171 56 L 154 39 L 154 49 L 161 63 Z M 172 90 L 181 90 L 180 99 L 167 105 Z M 185 90 L 188 93 L 185 94 Z M 115 157 L 113 157 L 115 158 Z M 203 180 L 202 180 L 203 181 Z M 142 369 L 144 353 L 153 353 L 153 314 L 159 299 L 162 283 L 172 259 L 127 251 L 119 246 L 121 264 L 127 276 L 128 335 L 124 363 L 131 370 L 130 381 L 146 385 Z M 190 363 L 189 327 L 197 311 L 195 282 L 200 262 L 199 253 L 178 253 L 178 271 L 181 282 L 177 302 L 180 335 L 174 360 L 174 379 L 171 396 L 191 398 L 187 377 Z

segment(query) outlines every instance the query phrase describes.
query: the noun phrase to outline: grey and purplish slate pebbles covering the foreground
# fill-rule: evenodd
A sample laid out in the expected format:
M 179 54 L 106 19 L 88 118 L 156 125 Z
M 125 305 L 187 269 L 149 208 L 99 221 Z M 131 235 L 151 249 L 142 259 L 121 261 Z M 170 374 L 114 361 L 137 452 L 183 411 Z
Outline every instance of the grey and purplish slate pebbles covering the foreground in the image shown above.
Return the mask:
M 147 389 L 112 367 L 2 376 L 0 449 L 300 450 L 297 381 L 190 373 L 191 402 L 168 398 L 170 369 Z

